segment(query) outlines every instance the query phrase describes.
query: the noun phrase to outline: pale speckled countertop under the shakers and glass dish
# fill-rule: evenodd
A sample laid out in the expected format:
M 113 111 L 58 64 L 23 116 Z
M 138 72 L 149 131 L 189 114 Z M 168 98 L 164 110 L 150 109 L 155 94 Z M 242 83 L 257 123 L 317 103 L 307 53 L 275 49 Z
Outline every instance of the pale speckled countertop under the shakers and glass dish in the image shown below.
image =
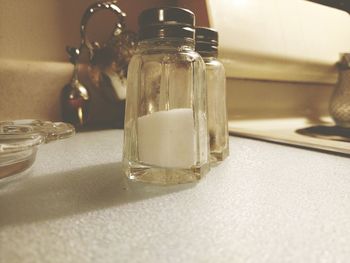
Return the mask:
M 132 183 L 120 130 L 44 145 L 0 186 L 0 262 L 349 262 L 350 159 L 230 137 L 197 184 Z

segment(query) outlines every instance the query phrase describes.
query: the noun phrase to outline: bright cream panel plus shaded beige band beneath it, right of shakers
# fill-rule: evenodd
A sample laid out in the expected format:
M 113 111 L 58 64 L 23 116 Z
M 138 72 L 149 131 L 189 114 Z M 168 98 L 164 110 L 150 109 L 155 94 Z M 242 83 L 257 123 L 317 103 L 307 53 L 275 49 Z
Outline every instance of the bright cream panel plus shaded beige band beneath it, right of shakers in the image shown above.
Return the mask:
M 328 115 L 349 14 L 304 0 L 207 0 L 231 120 Z

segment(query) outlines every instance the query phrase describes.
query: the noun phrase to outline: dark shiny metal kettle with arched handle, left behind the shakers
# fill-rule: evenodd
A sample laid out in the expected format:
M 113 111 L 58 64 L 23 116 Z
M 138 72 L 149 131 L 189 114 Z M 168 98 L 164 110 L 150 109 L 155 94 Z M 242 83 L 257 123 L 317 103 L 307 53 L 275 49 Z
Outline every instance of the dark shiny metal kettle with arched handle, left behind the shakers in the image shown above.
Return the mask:
M 106 43 L 91 42 L 86 33 L 87 24 L 101 10 L 111 11 L 117 22 Z M 127 68 L 137 45 L 137 35 L 127 30 L 125 18 L 115 1 L 88 6 L 80 23 L 80 47 L 66 49 L 74 72 L 61 94 L 62 115 L 64 121 L 77 128 L 123 128 Z M 80 98 L 80 95 L 84 96 Z M 72 99 L 84 104 L 72 103 Z M 81 105 L 83 110 L 79 108 Z

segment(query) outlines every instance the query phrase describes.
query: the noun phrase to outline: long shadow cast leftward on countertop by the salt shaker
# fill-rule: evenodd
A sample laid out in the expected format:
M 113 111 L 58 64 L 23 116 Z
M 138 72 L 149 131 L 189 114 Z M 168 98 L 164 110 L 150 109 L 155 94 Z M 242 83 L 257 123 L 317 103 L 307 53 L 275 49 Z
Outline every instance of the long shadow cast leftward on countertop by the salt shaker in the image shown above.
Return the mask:
M 193 186 L 195 183 L 164 187 L 131 182 L 123 175 L 121 163 L 29 175 L 0 188 L 0 228 L 122 206 Z

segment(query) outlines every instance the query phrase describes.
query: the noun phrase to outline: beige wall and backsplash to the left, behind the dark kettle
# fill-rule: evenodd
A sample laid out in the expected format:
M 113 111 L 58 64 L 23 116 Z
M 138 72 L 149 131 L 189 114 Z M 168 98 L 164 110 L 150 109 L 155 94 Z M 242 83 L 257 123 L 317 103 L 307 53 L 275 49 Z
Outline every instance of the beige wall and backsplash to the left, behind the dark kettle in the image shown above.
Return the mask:
M 60 92 L 72 75 L 66 45 L 80 44 L 83 12 L 95 0 L 0 0 L 0 120 L 60 120 Z M 137 17 L 167 0 L 120 0 L 127 25 L 137 30 Z M 92 40 L 109 37 L 114 15 L 92 17 Z

